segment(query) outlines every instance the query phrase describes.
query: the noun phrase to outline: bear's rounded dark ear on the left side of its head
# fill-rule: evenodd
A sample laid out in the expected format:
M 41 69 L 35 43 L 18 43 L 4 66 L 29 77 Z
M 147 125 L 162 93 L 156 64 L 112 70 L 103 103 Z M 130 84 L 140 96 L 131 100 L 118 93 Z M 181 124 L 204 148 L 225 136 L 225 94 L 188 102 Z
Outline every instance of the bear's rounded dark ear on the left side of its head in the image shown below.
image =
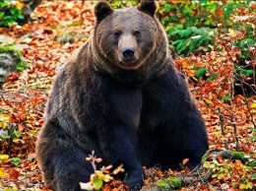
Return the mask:
M 106 2 L 98 2 L 95 7 L 96 23 L 99 24 L 106 16 L 113 13 L 113 11 Z

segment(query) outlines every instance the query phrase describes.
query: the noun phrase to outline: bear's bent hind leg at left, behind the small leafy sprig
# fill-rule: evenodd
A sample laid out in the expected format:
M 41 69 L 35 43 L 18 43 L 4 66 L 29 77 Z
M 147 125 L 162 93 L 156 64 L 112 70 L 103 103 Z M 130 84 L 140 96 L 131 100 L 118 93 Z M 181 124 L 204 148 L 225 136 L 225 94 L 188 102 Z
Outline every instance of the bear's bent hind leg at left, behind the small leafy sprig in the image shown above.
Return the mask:
M 37 142 L 36 154 L 43 179 L 55 191 L 79 191 L 79 182 L 88 182 L 94 172 L 92 164 L 86 161 L 89 153 L 73 146 L 57 129 L 48 123 Z

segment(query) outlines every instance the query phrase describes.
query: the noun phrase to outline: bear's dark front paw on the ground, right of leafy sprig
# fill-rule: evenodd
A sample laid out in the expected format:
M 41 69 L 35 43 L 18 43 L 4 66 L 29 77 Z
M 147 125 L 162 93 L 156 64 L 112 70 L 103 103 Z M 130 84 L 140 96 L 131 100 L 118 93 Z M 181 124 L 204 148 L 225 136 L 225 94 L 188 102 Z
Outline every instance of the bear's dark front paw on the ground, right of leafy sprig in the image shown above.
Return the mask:
M 142 189 L 144 185 L 144 171 L 133 171 L 132 173 L 128 174 L 128 178 L 124 180 L 124 184 L 129 187 L 130 191 L 139 191 Z

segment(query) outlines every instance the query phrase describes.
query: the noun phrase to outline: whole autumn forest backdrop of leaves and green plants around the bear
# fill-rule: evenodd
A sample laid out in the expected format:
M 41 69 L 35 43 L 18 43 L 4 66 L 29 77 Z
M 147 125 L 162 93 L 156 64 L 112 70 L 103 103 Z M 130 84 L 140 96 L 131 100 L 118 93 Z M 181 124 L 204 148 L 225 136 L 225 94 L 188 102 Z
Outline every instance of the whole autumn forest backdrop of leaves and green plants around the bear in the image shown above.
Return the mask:
M 115 9 L 139 3 L 108 2 Z M 49 190 L 34 142 L 54 75 L 94 30 L 95 4 L 0 1 L 1 191 Z M 31 18 L 28 5 L 35 8 Z M 196 171 L 189 171 L 187 159 L 181 172 L 145 168 L 144 190 L 255 190 L 256 1 L 166 0 L 158 9 L 175 66 L 204 115 L 210 150 Z M 94 189 L 127 189 L 111 175 L 96 170 Z

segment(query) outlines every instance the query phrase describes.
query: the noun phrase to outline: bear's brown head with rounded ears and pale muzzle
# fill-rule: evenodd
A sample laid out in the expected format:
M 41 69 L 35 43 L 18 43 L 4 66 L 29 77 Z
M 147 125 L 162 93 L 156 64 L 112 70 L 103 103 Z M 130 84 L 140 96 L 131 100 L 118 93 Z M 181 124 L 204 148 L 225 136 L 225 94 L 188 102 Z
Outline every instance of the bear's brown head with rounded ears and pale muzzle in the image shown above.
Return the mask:
M 155 0 L 142 0 L 139 6 L 123 10 L 99 2 L 95 8 L 96 52 L 108 64 L 126 71 L 137 70 L 146 62 L 158 62 L 166 56 L 167 39 L 156 10 Z

